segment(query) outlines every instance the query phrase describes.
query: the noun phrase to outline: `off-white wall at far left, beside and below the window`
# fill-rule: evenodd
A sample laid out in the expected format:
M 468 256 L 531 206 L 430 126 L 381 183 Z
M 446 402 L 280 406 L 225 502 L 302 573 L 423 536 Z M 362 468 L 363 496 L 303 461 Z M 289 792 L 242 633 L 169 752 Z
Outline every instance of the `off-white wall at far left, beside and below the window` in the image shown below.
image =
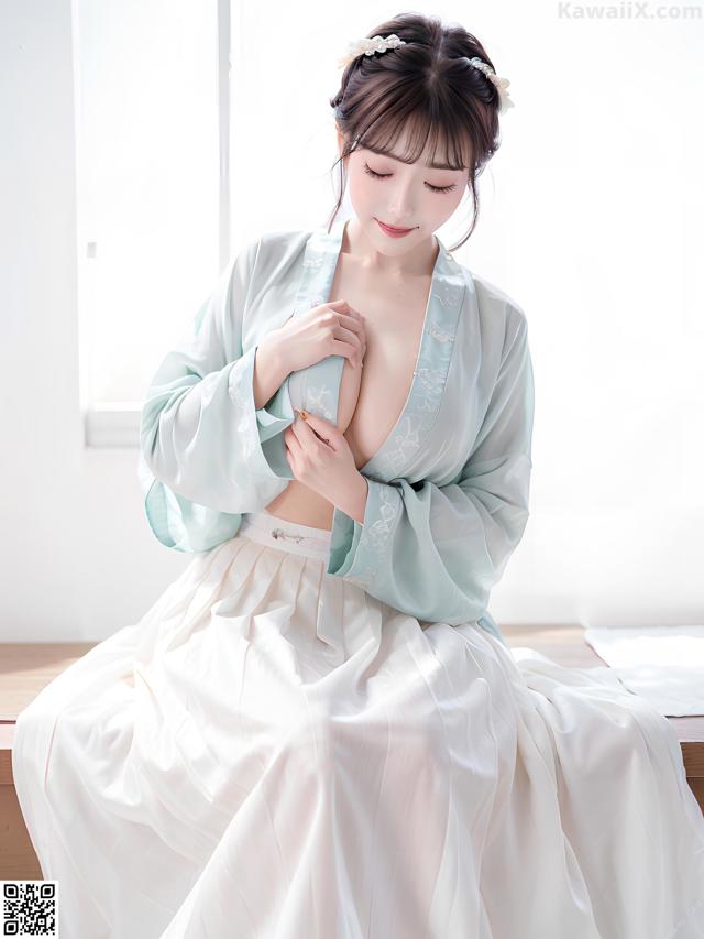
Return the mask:
M 187 560 L 142 516 L 136 450 L 85 450 L 69 0 L 0 4 L 0 641 L 97 641 Z

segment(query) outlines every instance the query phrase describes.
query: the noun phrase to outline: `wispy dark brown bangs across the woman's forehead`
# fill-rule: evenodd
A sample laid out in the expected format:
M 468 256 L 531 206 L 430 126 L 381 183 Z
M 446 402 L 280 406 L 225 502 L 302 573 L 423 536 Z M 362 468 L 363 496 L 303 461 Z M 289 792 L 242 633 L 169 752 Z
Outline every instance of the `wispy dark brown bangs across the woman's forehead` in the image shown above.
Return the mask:
M 362 120 L 362 132 L 350 152 L 359 149 L 393 156 L 403 163 L 416 163 L 429 144 L 428 166 L 433 170 L 469 170 L 471 139 L 460 120 L 451 112 L 432 116 L 422 107 L 408 112 L 400 102 L 394 108 L 378 108 Z M 405 150 L 399 138 L 407 132 Z

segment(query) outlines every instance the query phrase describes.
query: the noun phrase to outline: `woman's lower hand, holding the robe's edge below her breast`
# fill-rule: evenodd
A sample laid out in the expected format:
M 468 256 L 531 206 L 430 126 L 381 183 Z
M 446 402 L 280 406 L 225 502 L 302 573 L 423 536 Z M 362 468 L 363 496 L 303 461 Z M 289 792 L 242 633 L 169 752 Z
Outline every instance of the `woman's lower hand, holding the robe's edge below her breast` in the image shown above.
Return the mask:
M 344 434 L 329 421 L 306 412 L 284 430 L 286 457 L 294 477 L 351 517 L 362 515 L 366 480 L 358 470 Z M 322 438 L 322 439 L 321 439 Z

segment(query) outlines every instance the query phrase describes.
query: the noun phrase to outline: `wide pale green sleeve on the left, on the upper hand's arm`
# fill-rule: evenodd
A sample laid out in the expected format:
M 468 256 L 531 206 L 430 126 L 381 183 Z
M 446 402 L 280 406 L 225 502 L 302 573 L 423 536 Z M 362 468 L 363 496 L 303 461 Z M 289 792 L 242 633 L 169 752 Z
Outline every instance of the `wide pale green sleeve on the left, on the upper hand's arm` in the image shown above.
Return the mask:
M 261 240 L 228 265 L 191 327 L 158 367 L 140 421 L 140 482 L 156 537 L 183 552 L 232 537 L 293 478 L 282 434 L 294 423 L 288 379 L 254 406 L 257 346 L 242 323 Z

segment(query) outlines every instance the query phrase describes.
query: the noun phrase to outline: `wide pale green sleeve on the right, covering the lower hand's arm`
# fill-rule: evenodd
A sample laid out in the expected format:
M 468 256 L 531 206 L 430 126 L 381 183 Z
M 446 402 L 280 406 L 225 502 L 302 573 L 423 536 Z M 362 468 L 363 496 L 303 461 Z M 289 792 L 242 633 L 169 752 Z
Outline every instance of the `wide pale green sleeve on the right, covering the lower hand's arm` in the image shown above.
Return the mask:
M 369 479 L 364 521 L 334 510 L 328 572 L 419 620 L 480 620 L 528 521 L 534 376 L 522 313 L 457 481 Z

